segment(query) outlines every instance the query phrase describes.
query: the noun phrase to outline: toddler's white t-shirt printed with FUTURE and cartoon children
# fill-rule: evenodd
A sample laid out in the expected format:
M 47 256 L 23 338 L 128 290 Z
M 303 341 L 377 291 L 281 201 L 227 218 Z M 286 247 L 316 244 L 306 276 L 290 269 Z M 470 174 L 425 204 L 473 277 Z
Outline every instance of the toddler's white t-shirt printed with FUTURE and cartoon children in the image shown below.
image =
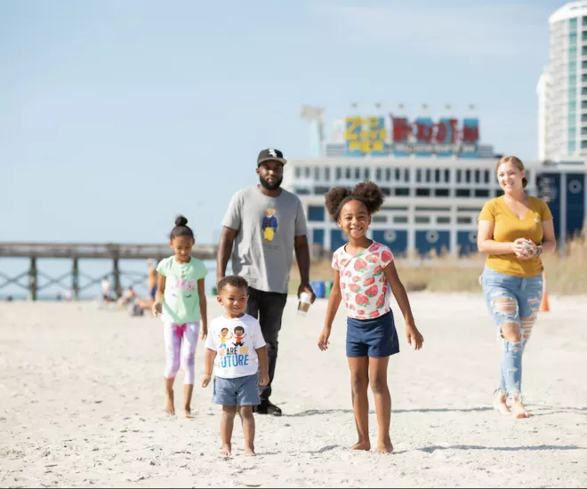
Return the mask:
M 257 373 L 257 349 L 265 345 L 259 321 L 248 314 L 234 318 L 216 317 L 208 327 L 205 341 L 205 348 L 216 352 L 216 377 L 223 379 L 237 379 Z

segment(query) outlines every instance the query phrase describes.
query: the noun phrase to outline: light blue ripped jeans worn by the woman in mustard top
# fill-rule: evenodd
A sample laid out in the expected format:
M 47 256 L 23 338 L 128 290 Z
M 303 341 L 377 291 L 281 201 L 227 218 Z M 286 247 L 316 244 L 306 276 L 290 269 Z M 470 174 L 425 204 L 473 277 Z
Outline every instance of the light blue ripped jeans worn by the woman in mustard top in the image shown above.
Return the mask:
M 535 324 L 543 298 L 543 276 L 514 277 L 485 268 L 481 276 L 487 309 L 500 333 L 504 325 L 518 341 L 503 338 L 503 357 L 497 391 L 521 399 L 522 354 Z M 511 333 L 508 334 L 511 337 Z

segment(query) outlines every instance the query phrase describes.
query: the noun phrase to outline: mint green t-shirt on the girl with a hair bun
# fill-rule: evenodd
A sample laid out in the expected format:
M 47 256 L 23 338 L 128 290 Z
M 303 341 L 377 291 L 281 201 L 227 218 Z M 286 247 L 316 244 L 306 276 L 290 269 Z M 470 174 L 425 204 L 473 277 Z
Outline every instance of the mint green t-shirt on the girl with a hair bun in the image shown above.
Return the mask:
M 163 320 L 180 325 L 199 321 L 197 281 L 208 273 L 204 263 L 193 257 L 188 263 L 178 263 L 170 256 L 159 262 L 157 272 L 165 277 Z

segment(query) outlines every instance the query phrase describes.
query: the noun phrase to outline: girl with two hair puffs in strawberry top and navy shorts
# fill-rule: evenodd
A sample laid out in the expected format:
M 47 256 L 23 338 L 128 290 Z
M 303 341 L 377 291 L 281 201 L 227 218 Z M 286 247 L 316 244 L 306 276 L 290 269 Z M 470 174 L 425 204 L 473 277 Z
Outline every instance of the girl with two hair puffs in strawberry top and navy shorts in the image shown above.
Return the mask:
M 367 397 L 371 383 L 379 425 L 377 452 L 391 453 L 391 397 L 387 367 L 390 356 L 399 352 L 399 341 L 390 308 L 390 287 L 406 322 L 407 342 L 417 350 L 422 348 L 424 339 L 416 328 L 390 248 L 366 236 L 371 216 L 382 204 L 382 190 L 373 182 L 359 183 L 352 190 L 333 188 L 326 194 L 326 210 L 349 236 L 349 243 L 334 252 L 334 284 L 318 348 L 322 351 L 328 349 L 334 317 L 344 299 L 347 308 L 346 349 L 358 431 L 358 442 L 351 449 L 371 449 Z

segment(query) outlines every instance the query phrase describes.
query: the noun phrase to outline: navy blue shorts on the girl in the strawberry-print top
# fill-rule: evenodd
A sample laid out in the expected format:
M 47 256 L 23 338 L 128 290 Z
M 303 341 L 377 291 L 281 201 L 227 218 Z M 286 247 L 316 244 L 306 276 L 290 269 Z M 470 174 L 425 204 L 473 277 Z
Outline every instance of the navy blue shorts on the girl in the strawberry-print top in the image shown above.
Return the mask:
M 393 312 L 374 319 L 347 317 L 347 357 L 390 357 L 399 353 Z

